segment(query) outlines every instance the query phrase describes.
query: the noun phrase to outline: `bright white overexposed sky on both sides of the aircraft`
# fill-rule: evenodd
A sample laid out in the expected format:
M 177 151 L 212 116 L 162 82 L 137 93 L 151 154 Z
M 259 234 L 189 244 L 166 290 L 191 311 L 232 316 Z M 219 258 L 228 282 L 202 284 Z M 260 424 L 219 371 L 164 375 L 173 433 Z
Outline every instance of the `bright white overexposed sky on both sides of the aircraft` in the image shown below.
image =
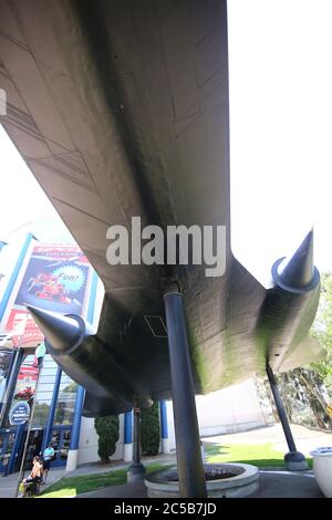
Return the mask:
M 228 2 L 231 243 L 262 283 L 312 226 L 332 271 L 331 27 L 331 0 Z M 0 154 L 0 240 L 70 240 L 2 128 Z

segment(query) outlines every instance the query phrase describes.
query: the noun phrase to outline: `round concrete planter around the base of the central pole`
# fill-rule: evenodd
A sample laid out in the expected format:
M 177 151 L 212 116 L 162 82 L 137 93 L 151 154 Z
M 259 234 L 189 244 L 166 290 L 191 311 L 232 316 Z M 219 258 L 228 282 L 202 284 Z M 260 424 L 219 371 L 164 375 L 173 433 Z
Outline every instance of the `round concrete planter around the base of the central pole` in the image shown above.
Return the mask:
M 258 489 L 259 471 L 249 464 L 205 464 L 206 472 L 232 474 L 232 477 L 207 480 L 208 497 L 248 497 Z M 145 479 L 147 496 L 151 498 L 179 497 L 176 466 L 155 471 Z

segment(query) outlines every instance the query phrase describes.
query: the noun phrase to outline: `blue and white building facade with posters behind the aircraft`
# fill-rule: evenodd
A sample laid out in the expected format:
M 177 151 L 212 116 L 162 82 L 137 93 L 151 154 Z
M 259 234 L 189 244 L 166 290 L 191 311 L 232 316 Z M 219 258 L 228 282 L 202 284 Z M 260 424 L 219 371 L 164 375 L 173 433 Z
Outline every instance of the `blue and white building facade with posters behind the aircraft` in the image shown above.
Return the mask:
M 53 466 L 98 459 L 94 419 L 82 417 L 84 389 L 61 371 L 48 353 L 38 357 L 43 335 L 25 304 L 76 313 L 96 330 L 103 285 L 84 253 L 73 245 L 44 245 L 28 235 L 0 250 L 0 472 L 25 467 L 51 443 Z M 41 361 L 42 358 L 42 361 Z M 196 397 L 200 436 L 239 431 L 269 422 L 252 381 Z M 29 420 L 21 415 L 28 409 Z M 162 402 L 160 450 L 176 448 L 172 402 Z M 21 414 L 21 415 L 20 415 Z M 27 419 L 27 417 L 25 417 Z M 120 416 L 120 440 L 113 459 L 132 459 L 133 414 Z M 25 443 L 27 436 L 29 437 Z

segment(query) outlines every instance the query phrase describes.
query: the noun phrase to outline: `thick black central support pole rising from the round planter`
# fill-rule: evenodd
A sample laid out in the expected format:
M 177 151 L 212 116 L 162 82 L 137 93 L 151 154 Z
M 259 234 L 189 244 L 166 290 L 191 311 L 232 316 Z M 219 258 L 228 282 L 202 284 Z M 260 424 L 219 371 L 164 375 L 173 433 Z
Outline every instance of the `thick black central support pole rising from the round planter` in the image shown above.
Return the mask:
M 180 497 L 204 498 L 207 496 L 205 471 L 201 460 L 183 295 L 176 290 L 174 292 L 169 290 L 164 295 L 164 300 L 168 334 L 179 492 Z

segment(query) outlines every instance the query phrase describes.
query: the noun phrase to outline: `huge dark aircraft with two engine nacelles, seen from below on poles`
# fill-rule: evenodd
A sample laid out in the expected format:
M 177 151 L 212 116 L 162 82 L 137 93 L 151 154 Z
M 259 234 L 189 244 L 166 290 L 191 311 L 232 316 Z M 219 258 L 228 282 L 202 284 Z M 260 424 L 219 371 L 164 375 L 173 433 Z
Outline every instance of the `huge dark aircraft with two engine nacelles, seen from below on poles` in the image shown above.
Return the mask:
M 231 253 L 226 1 L 1 0 L 0 12 L 1 122 L 105 288 L 95 333 L 30 308 L 86 388 L 83 414 L 188 403 L 190 381 L 206 394 L 315 360 L 312 231 L 274 263 L 269 289 Z M 165 230 L 225 226 L 224 275 L 110 266 L 108 227 L 135 216 Z M 175 426 L 178 441 L 176 410 Z

